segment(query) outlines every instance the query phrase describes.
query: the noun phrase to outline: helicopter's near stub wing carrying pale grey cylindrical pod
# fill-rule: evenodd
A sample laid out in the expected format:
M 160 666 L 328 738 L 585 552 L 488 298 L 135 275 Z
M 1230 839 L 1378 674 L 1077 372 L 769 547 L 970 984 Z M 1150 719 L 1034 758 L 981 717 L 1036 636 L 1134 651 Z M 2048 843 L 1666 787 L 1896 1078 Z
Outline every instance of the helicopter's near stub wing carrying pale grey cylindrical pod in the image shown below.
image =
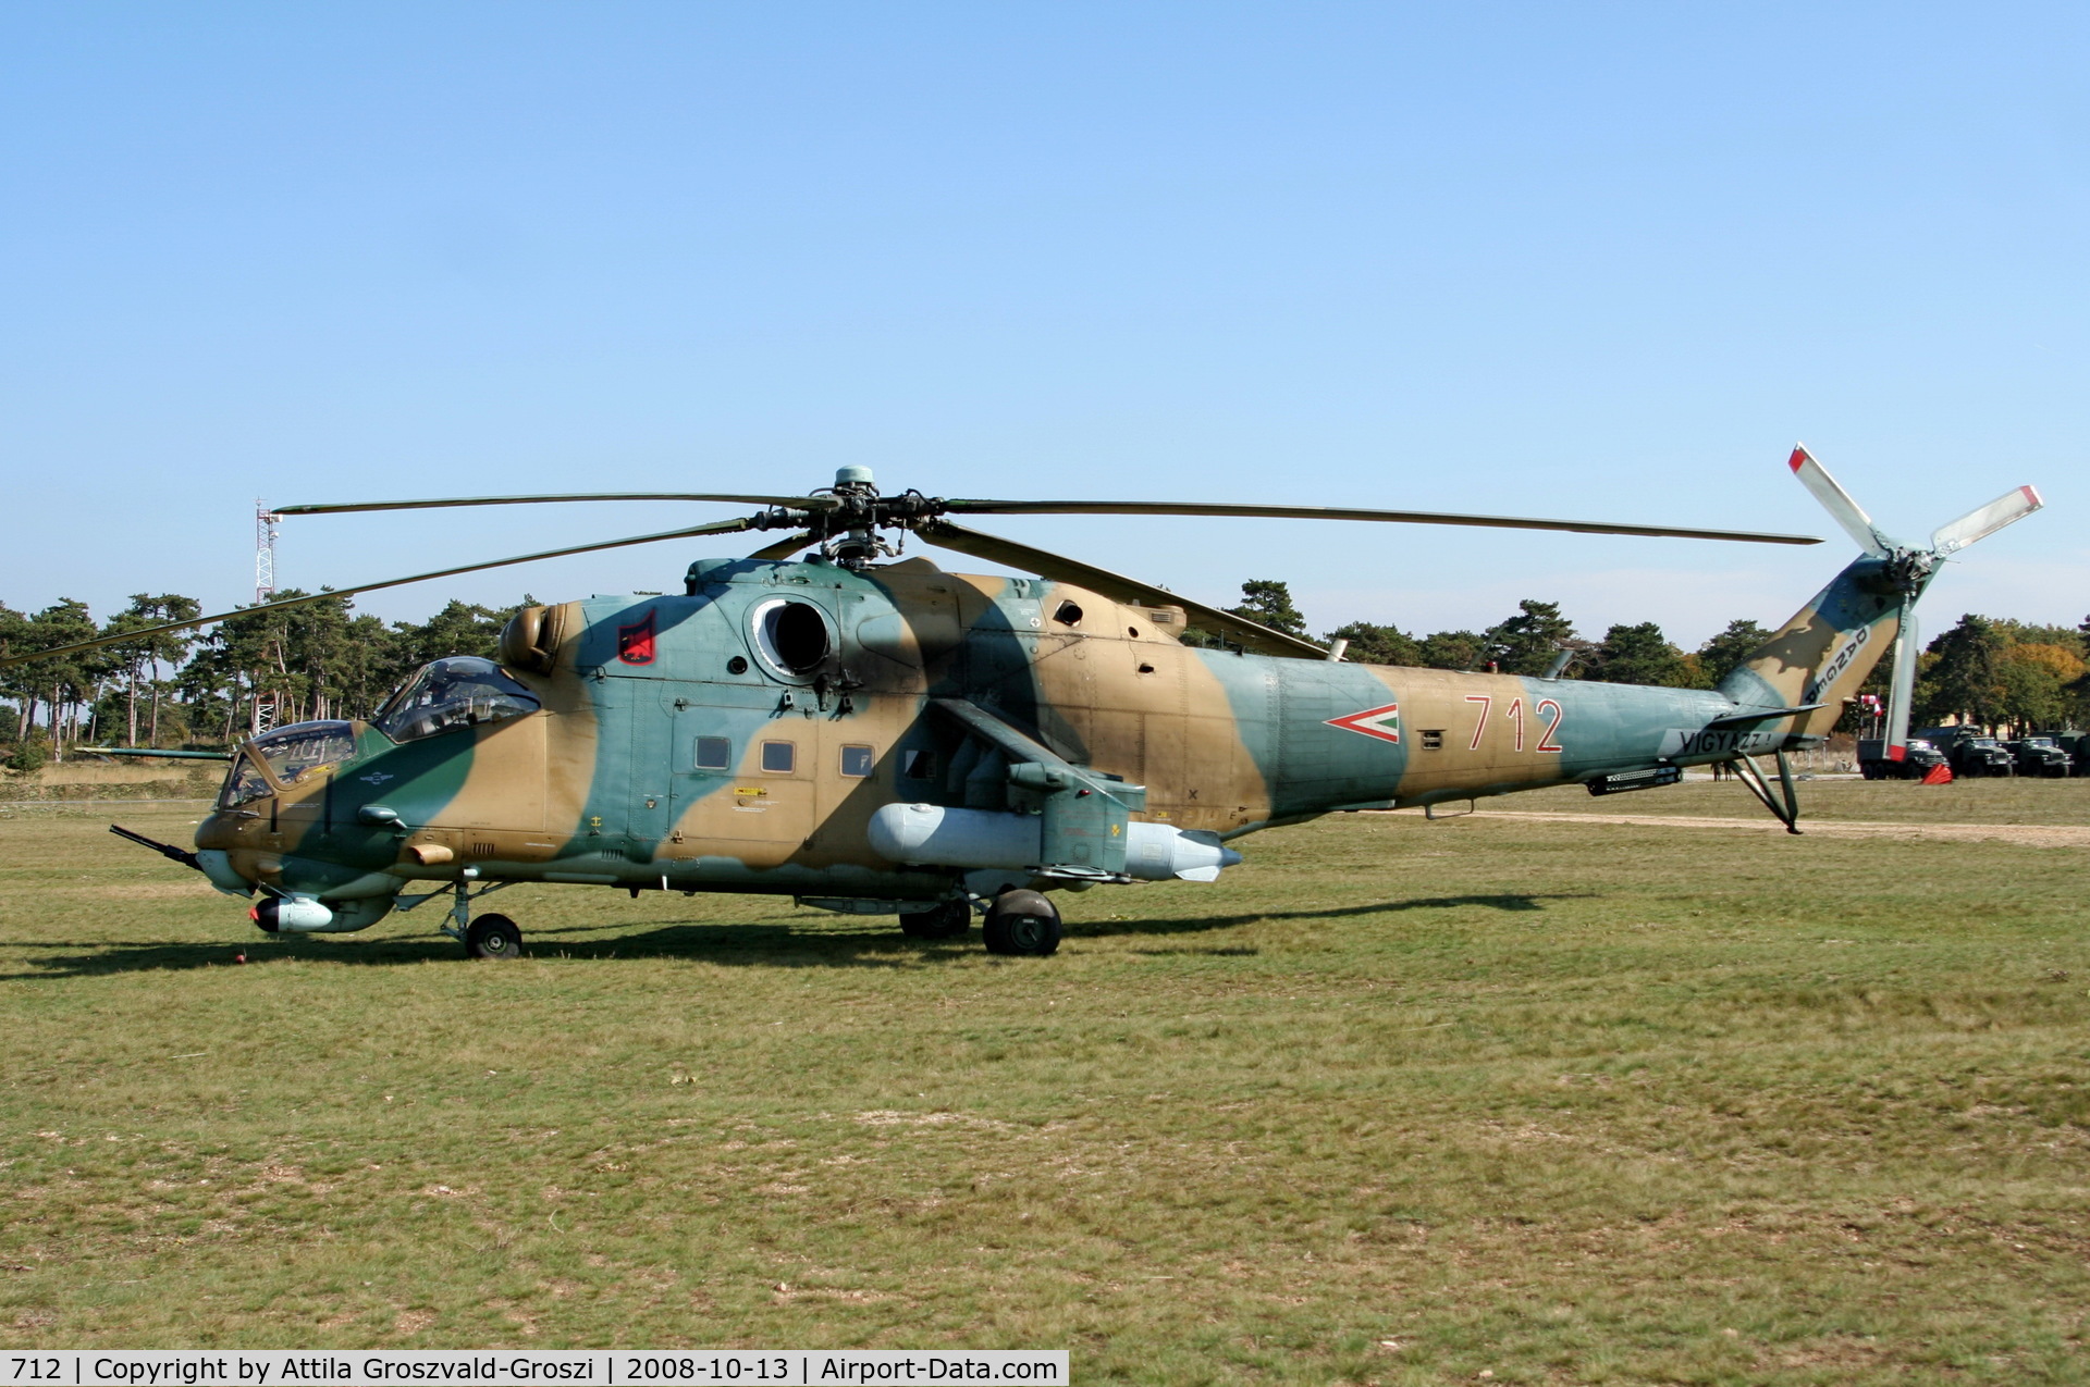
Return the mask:
M 1035 737 L 961 698 L 932 706 L 1005 767 L 1009 810 L 886 804 L 872 815 L 872 848 L 895 863 L 1020 869 L 1070 881 L 1185 877 L 1212 881 L 1241 861 L 1212 833 L 1133 823 L 1145 785 L 1129 785 L 1058 756 Z

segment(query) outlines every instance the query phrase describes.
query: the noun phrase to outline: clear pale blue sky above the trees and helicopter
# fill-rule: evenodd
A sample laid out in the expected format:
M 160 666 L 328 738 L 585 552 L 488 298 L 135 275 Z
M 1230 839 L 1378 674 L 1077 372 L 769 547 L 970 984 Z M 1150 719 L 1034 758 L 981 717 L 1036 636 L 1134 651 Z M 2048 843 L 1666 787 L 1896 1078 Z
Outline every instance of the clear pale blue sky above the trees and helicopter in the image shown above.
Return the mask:
M 982 528 L 1319 629 L 1549 597 L 1695 643 L 2050 508 L 1925 604 L 2090 612 L 2080 6 L 0 8 L 0 600 L 251 591 L 253 499 L 1271 499 L 1812 551 L 1223 520 Z M 286 520 L 284 585 L 723 508 Z M 372 593 L 675 589 L 656 545 Z M 951 560 L 978 568 L 972 560 Z

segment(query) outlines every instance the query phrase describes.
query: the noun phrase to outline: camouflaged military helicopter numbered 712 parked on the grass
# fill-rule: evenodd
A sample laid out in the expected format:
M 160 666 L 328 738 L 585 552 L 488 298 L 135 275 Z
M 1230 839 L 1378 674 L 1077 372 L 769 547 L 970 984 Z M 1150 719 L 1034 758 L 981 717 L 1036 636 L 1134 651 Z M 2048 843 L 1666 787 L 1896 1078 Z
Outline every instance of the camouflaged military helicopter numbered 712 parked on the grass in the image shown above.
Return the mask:
M 1791 468 L 1864 554 L 1718 689 L 1392 668 L 1162 587 L 966 528 L 974 514 L 1277 516 L 1601 535 L 1820 543 L 1507 516 L 1141 501 L 880 495 L 842 468 L 805 497 L 527 495 L 349 506 L 382 512 L 548 501 L 727 501 L 752 516 L 332 589 L 357 593 L 562 554 L 786 531 L 748 558 L 690 564 L 681 595 L 518 610 L 500 658 L 420 668 L 368 721 L 299 723 L 228 752 L 196 848 L 113 829 L 255 896 L 268 932 L 366 930 L 447 898 L 443 932 L 510 957 L 516 925 L 472 907 L 516 881 L 773 892 L 897 913 L 986 948 L 1049 955 L 1045 892 L 1210 881 L 1256 829 L 1354 808 L 1580 781 L 1597 794 L 1737 762 L 1797 831 L 1787 750 L 1818 744 L 1896 650 L 1906 742 L 1912 608 L 1940 564 L 2040 508 L 2031 487 L 1937 528 L 1881 533 L 1806 453 Z M 888 533 L 1037 577 L 966 577 Z M 796 560 L 803 549 L 813 549 Z M 278 602 L 293 606 L 328 593 Z M 242 612 L 222 612 L 176 631 Z M 1187 627 L 1218 641 L 1189 645 Z M 130 631 L 90 643 L 134 641 Z M 84 650 L 90 643 L 69 650 Z M 61 654 L 61 652 L 44 652 Z M 21 662 L 17 656 L 6 664 Z M 1756 756 L 1774 758 L 1774 779 Z

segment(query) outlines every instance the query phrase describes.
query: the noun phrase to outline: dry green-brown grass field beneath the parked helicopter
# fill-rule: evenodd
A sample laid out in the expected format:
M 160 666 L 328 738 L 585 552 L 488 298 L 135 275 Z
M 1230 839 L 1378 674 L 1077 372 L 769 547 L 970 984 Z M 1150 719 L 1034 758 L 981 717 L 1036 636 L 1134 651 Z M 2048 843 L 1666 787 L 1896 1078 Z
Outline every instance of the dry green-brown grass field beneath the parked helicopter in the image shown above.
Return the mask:
M 2090 781 L 1808 798 L 2090 823 Z M 4 1345 L 2090 1377 L 2082 848 L 1356 815 L 1064 896 L 1043 961 L 516 888 L 533 957 L 464 963 L 435 907 L 268 940 L 104 823 L 0 823 Z

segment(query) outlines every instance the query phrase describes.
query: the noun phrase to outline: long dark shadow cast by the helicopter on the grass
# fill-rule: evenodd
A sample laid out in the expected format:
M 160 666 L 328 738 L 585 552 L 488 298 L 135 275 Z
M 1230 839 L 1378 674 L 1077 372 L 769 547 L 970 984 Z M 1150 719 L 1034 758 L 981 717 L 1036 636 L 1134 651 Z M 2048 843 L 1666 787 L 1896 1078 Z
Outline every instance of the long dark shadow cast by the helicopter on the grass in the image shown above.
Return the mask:
M 1068 921 L 1068 940 L 1078 944 L 1078 940 L 1085 938 L 1212 934 L 1267 921 L 1336 921 L 1365 915 L 1394 915 L 1404 911 L 1457 911 L 1465 907 L 1530 913 L 1545 911 L 1547 900 L 1570 900 L 1586 894 L 1588 892 L 1515 892 L 1492 896 L 1423 896 L 1319 911 L 1252 911 L 1239 915 L 1204 915 L 1185 919 L 1072 919 Z M 692 963 L 734 967 L 903 969 L 972 953 L 980 946 L 978 930 L 959 940 L 924 942 L 905 938 L 897 927 L 880 930 L 859 923 L 855 930 L 836 930 L 834 923 L 838 919 L 844 917 L 819 917 L 817 921 L 805 917 L 788 921 L 665 921 L 635 932 L 629 925 L 614 921 L 602 925 L 552 925 L 527 932 L 525 950 L 541 961 L 688 959 Z M 454 940 L 435 934 L 385 936 L 372 940 L 245 938 L 209 944 L 140 942 L 109 944 L 92 950 L 73 948 L 71 953 L 46 953 L 59 948 L 65 946 L 38 942 L 0 944 L 0 959 L 13 959 L 15 969 L 10 969 L 13 975 L 0 978 L 0 986 L 8 982 L 94 978 L 109 973 L 238 967 L 240 963 L 265 965 L 284 957 L 297 957 L 307 963 L 359 967 L 397 967 L 441 959 L 464 963 L 460 946 Z

